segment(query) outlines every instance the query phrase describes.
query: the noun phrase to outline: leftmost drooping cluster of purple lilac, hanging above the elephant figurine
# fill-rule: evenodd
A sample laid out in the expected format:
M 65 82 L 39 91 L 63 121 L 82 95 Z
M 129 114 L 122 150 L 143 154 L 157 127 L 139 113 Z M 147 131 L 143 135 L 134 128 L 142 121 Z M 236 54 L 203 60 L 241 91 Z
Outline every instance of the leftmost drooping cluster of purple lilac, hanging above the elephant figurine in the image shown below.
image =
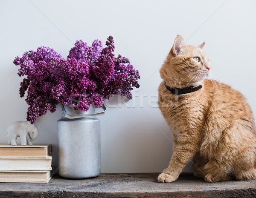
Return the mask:
M 58 84 L 55 78 L 55 68 L 50 63 L 52 58 L 61 59 L 61 55 L 48 47 L 38 47 L 37 51 L 25 52 L 23 56 L 16 57 L 15 65 L 19 65 L 19 76 L 26 75 L 20 83 L 20 97 L 27 90 L 26 103 L 29 105 L 27 120 L 35 123 L 38 116 L 44 115 L 49 109 L 56 110 L 58 100 L 52 98 L 51 89 Z

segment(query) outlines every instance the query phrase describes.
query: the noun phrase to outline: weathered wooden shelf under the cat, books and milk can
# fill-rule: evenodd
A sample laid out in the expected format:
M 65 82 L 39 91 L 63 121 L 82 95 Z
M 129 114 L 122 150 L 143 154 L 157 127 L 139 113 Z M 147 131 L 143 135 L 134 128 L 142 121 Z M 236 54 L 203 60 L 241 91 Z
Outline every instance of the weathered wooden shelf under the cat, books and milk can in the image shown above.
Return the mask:
M 157 182 L 158 173 L 101 174 L 70 180 L 55 175 L 48 184 L 0 183 L 0 198 L 256 198 L 256 180 L 207 183 L 181 175 L 169 184 Z

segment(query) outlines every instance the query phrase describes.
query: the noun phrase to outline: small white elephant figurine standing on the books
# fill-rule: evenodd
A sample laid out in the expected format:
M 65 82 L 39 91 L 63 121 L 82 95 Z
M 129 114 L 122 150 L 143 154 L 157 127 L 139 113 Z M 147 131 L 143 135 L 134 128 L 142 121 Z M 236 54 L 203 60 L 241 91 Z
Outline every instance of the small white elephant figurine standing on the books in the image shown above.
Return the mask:
M 29 133 L 34 133 L 34 138 Z M 20 137 L 21 145 L 32 145 L 32 141 L 38 137 L 38 127 L 28 121 L 17 121 L 8 127 L 7 136 L 9 145 L 17 145 L 17 137 Z

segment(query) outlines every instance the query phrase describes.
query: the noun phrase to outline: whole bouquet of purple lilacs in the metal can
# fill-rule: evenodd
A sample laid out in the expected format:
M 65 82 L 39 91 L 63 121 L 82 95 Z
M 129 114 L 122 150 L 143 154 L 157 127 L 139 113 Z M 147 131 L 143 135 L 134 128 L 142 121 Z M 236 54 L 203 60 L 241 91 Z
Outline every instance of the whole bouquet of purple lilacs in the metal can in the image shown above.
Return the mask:
M 140 86 L 140 75 L 127 58 L 115 57 L 113 43 L 109 36 L 102 49 L 99 40 L 93 41 L 92 46 L 78 40 L 67 59 L 44 46 L 16 57 L 18 75 L 26 76 L 20 83 L 20 97 L 27 91 L 27 121 L 35 123 L 47 110 L 55 112 L 60 102 L 87 111 L 90 105 L 102 107 L 113 95 L 131 99 L 133 87 Z

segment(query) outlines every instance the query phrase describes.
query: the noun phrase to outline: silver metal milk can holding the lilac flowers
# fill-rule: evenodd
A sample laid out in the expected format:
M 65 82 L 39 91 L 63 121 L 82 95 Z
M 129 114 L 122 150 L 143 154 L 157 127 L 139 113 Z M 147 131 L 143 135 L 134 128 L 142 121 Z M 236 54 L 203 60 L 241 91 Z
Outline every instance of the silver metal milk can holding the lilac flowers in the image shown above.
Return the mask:
M 82 179 L 100 174 L 100 121 L 96 108 L 87 112 L 63 106 L 58 120 L 58 173 L 61 177 Z

